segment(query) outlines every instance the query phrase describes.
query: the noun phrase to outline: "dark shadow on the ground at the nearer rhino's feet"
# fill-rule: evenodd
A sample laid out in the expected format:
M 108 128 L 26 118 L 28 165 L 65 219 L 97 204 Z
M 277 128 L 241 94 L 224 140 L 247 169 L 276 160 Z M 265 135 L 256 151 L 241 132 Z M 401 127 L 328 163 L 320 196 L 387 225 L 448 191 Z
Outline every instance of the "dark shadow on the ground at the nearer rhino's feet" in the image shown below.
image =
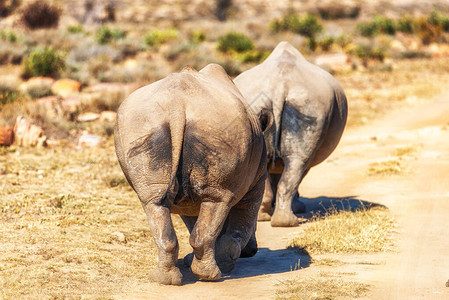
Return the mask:
M 234 270 L 223 275 L 219 281 L 256 277 L 266 274 L 285 273 L 310 266 L 311 257 L 305 249 L 270 250 L 259 248 L 253 257 L 239 258 Z M 182 259 L 178 260 L 179 269 L 183 275 L 182 284 L 192 284 L 200 279 L 192 274 Z

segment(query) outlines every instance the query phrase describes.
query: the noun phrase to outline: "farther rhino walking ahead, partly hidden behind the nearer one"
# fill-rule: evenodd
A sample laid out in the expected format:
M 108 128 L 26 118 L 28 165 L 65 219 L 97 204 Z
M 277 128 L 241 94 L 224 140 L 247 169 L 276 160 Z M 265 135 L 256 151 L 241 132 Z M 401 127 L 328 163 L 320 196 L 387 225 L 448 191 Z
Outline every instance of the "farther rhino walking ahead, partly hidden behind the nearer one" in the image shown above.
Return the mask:
M 343 89 L 287 42 L 279 43 L 263 63 L 234 82 L 256 114 L 270 110 L 274 115 L 272 130 L 264 133 L 269 177 L 259 221 L 296 226 L 292 204 L 298 206 L 299 184 L 311 167 L 332 153 L 343 133 L 347 118 Z

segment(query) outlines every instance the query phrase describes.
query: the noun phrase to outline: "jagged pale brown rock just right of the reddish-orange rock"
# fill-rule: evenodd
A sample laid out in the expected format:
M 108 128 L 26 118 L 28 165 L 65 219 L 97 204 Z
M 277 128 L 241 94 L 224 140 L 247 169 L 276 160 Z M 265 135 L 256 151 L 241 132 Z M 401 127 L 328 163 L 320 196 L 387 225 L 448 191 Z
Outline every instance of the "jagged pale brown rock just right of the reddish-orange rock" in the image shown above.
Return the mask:
M 18 146 L 42 147 L 46 146 L 47 137 L 40 126 L 18 116 L 14 125 L 14 141 Z

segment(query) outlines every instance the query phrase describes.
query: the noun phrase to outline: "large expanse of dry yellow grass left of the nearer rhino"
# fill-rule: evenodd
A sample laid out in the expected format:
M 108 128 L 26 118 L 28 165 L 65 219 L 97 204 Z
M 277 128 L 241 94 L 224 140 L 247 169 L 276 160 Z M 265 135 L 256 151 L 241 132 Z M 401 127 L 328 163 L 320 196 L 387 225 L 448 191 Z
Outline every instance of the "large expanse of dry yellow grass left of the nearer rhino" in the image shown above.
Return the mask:
M 0 222 L 2 299 L 111 298 L 148 282 L 157 261 L 111 140 L 96 149 L 1 151 Z M 175 227 L 187 247 L 179 218 Z

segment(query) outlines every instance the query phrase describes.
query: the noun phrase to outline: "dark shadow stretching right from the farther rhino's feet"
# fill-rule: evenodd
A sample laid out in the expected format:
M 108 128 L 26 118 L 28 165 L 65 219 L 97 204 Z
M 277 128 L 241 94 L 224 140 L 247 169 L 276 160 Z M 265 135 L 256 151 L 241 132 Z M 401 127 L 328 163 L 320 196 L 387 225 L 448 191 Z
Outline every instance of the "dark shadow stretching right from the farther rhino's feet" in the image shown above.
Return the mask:
M 330 212 L 357 211 L 360 209 L 370 209 L 374 207 L 387 208 L 385 205 L 358 199 L 357 196 L 346 197 L 326 197 L 319 196 L 315 198 L 299 197 L 299 202 L 305 205 L 304 213 L 296 213 L 299 218 L 307 222 L 314 216 L 326 216 Z

